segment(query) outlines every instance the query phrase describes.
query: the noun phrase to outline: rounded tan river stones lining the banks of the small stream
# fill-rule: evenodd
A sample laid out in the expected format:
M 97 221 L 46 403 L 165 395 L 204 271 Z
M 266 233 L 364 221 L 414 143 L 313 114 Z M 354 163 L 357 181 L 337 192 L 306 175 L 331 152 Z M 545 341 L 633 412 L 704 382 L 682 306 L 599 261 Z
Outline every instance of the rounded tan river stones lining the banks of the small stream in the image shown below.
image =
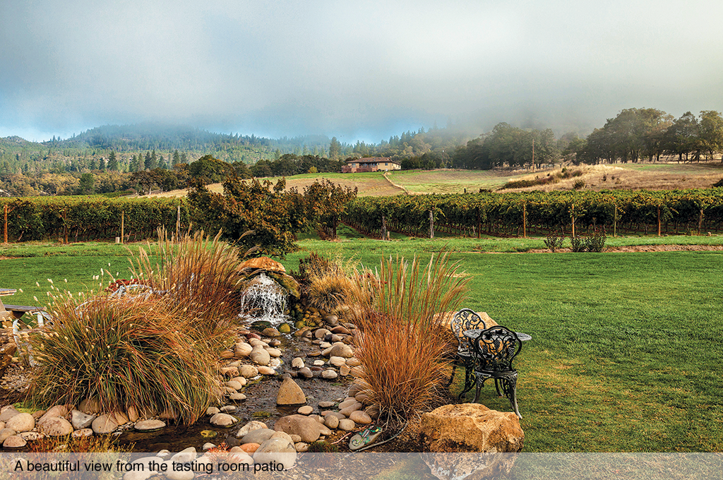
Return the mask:
M 278 390 L 276 403 L 278 406 L 299 405 L 294 415 L 282 416 L 274 429 L 268 429 L 261 421 L 249 421 L 239 432 L 241 445 L 232 447 L 231 451 L 254 454 L 265 453 L 270 447 L 264 442 L 283 439 L 293 447 L 294 452 L 305 452 L 309 444 L 324 440 L 334 434 L 334 430 L 342 433 L 351 432 L 358 426 L 372 423 L 377 417 L 373 408 L 364 409 L 367 395 L 361 393 L 361 387 L 352 383 L 346 398 L 335 398 L 318 402 L 318 413 L 315 408 L 307 405 L 304 391 L 294 378 L 299 380 L 320 377 L 324 380 L 336 380 L 338 377 L 359 374 L 359 359 L 354 357 L 351 343 L 354 340 L 356 327 L 351 323 L 340 324 L 335 315 L 326 315 L 317 327 L 302 327 L 294 332 L 294 336 L 302 341 L 318 346 L 310 353 L 296 353 L 291 361 L 291 369 L 281 375 L 283 381 Z M 263 338 L 262 335 L 264 335 Z M 260 375 L 278 375 L 276 369 L 282 366 L 280 348 L 281 333 L 273 327 L 263 330 L 262 335 L 250 330 L 241 330 L 233 351 L 221 352 L 225 363 L 219 368 L 221 391 L 218 407 L 209 407 L 205 412 L 210 424 L 216 427 L 234 427 L 240 420 L 232 416 L 236 406 L 226 403 L 238 403 L 246 399 L 241 392 L 249 381 L 257 380 Z M 312 359 L 309 367 L 305 359 Z M 0 408 L 0 444 L 7 450 L 16 450 L 27 445 L 30 440 L 38 440 L 44 436 L 87 437 L 93 434 L 120 434 L 124 430 L 135 429 L 139 432 L 153 432 L 166 427 L 166 421 L 174 420 L 174 412 L 138 412 L 135 408 L 127 411 L 101 412 L 98 400 L 90 398 L 82 400 L 75 408 L 71 405 L 56 405 L 47 411 L 24 413 L 13 406 Z M 256 432 L 259 430 L 260 432 Z M 252 436 L 247 434 L 255 432 Z M 278 444 L 280 442 L 275 442 Z M 283 443 L 283 442 L 281 442 Z M 215 445 L 207 443 L 205 447 Z M 283 448 L 282 448 L 283 447 Z M 273 450 L 287 449 L 289 445 L 275 445 Z M 238 450 L 236 450 L 238 449 Z M 272 451 L 273 451 L 272 450 Z M 283 453 L 288 453 L 286 450 Z

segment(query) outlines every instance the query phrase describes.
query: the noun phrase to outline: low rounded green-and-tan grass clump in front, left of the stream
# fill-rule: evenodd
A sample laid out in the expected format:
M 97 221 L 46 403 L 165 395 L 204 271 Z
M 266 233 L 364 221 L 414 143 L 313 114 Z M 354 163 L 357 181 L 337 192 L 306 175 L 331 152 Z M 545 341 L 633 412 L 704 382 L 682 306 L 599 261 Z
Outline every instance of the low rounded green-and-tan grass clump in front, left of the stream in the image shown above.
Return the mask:
M 103 411 L 169 411 L 192 424 L 220 394 L 218 350 L 167 299 L 57 297 L 55 322 L 30 335 L 33 406 L 96 398 Z

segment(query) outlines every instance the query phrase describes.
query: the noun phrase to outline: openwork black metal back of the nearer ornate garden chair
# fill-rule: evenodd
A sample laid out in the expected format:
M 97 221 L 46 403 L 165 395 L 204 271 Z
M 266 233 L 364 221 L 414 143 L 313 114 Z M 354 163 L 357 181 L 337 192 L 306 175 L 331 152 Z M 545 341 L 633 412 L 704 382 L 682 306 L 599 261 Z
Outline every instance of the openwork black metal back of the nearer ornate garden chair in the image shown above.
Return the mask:
M 522 341 L 507 327 L 496 325 L 484 330 L 473 343 L 476 370 L 494 376 L 495 372 L 514 372 L 512 361 L 522 350 Z

